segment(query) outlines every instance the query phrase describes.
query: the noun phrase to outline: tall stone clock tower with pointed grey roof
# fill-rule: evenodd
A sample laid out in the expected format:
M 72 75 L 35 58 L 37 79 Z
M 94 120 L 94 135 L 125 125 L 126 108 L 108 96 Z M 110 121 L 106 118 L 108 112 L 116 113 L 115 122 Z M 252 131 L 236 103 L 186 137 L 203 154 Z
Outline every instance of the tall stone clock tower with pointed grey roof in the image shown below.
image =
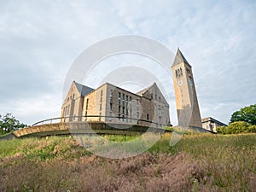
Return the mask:
M 172 64 L 172 78 L 178 125 L 182 127 L 202 127 L 192 69 L 180 49 L 177 49 Z

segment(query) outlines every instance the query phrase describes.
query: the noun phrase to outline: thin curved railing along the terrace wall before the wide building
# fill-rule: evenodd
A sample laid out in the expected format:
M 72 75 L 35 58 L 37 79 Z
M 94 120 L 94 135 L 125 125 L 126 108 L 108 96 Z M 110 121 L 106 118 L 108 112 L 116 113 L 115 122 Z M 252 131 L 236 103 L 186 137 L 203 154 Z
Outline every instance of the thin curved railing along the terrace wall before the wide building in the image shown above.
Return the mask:
M 87 118 L 98 118 L 98 120 L 87 120 Z M 110 121 L 110 120 L 106 120 L 106 119 L 102 120 L 102 118 L 118 119 L 118 122 L 112 121 L 112 120 Z M 120 119 L 123 119 L 123 121 L 121 122 Z M 126 122 L 125 122 L 125 119 L 127 119 Z M 130 120 L 130 124 L 132 121 L 132 122 L 136 122 L 137 125 L 142 125 L 142 122 L 144 122 L 144 123 L 148 123 L 148 124 L 153 124 L 155 127 L 161 126 L 161 124 L 154 123 L 153 121 L 146 120 L 146 119 L 135 119 L 135 118 L 126 118 L 126 117 L 121 117 L 121 116 L 116 117 L 116 116 L 106 116 L 106 115 L 65 116 L 65 117 L 44 119 L 44 120 L 40 120 L 40 121 L 34 123 L 32 126 L 57 123 L 56 120 L 58 120 L 58 122 L 62 122 L 62 123 L 85 121 L 85 122 L 102 122 L 102 123 L 106 122 L 106 123 L 126 123 L 126 124 L 129 124 L 129 120 Z

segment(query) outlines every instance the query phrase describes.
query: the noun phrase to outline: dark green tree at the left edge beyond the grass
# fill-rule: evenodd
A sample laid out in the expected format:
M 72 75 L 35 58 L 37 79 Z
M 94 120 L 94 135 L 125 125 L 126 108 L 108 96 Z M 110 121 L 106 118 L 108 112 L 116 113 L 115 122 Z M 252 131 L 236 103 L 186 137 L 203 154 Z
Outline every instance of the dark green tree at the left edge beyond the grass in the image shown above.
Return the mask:
M 20 123 L 11 113 L 7 113 L 4 116 L 0 115 L 0 135 L 23 127 L 26 127 L 26 125 Z

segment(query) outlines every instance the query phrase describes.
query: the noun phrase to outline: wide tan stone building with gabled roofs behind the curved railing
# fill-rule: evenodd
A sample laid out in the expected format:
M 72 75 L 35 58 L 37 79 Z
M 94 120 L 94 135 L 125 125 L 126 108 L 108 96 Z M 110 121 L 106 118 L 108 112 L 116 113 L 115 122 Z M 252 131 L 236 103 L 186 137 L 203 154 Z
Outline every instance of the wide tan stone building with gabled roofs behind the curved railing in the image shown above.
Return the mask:
M 61 108 L 61 121 L 102 121 L 139 125 L 171 125 L 169 105 L 157 84 L 132 93 L 113 84 L 96 90 L 73 81 Z

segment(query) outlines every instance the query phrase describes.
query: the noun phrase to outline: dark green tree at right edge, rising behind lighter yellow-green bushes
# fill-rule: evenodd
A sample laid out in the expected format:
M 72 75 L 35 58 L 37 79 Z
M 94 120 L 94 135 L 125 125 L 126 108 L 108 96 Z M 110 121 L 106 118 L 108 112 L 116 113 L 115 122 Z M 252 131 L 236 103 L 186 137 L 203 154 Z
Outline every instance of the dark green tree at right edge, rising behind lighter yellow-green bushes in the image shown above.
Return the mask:
M 231 115 L 230 123 L 245 121 L 251 125 L 256 125 L 256 104 L 241 108 Z

